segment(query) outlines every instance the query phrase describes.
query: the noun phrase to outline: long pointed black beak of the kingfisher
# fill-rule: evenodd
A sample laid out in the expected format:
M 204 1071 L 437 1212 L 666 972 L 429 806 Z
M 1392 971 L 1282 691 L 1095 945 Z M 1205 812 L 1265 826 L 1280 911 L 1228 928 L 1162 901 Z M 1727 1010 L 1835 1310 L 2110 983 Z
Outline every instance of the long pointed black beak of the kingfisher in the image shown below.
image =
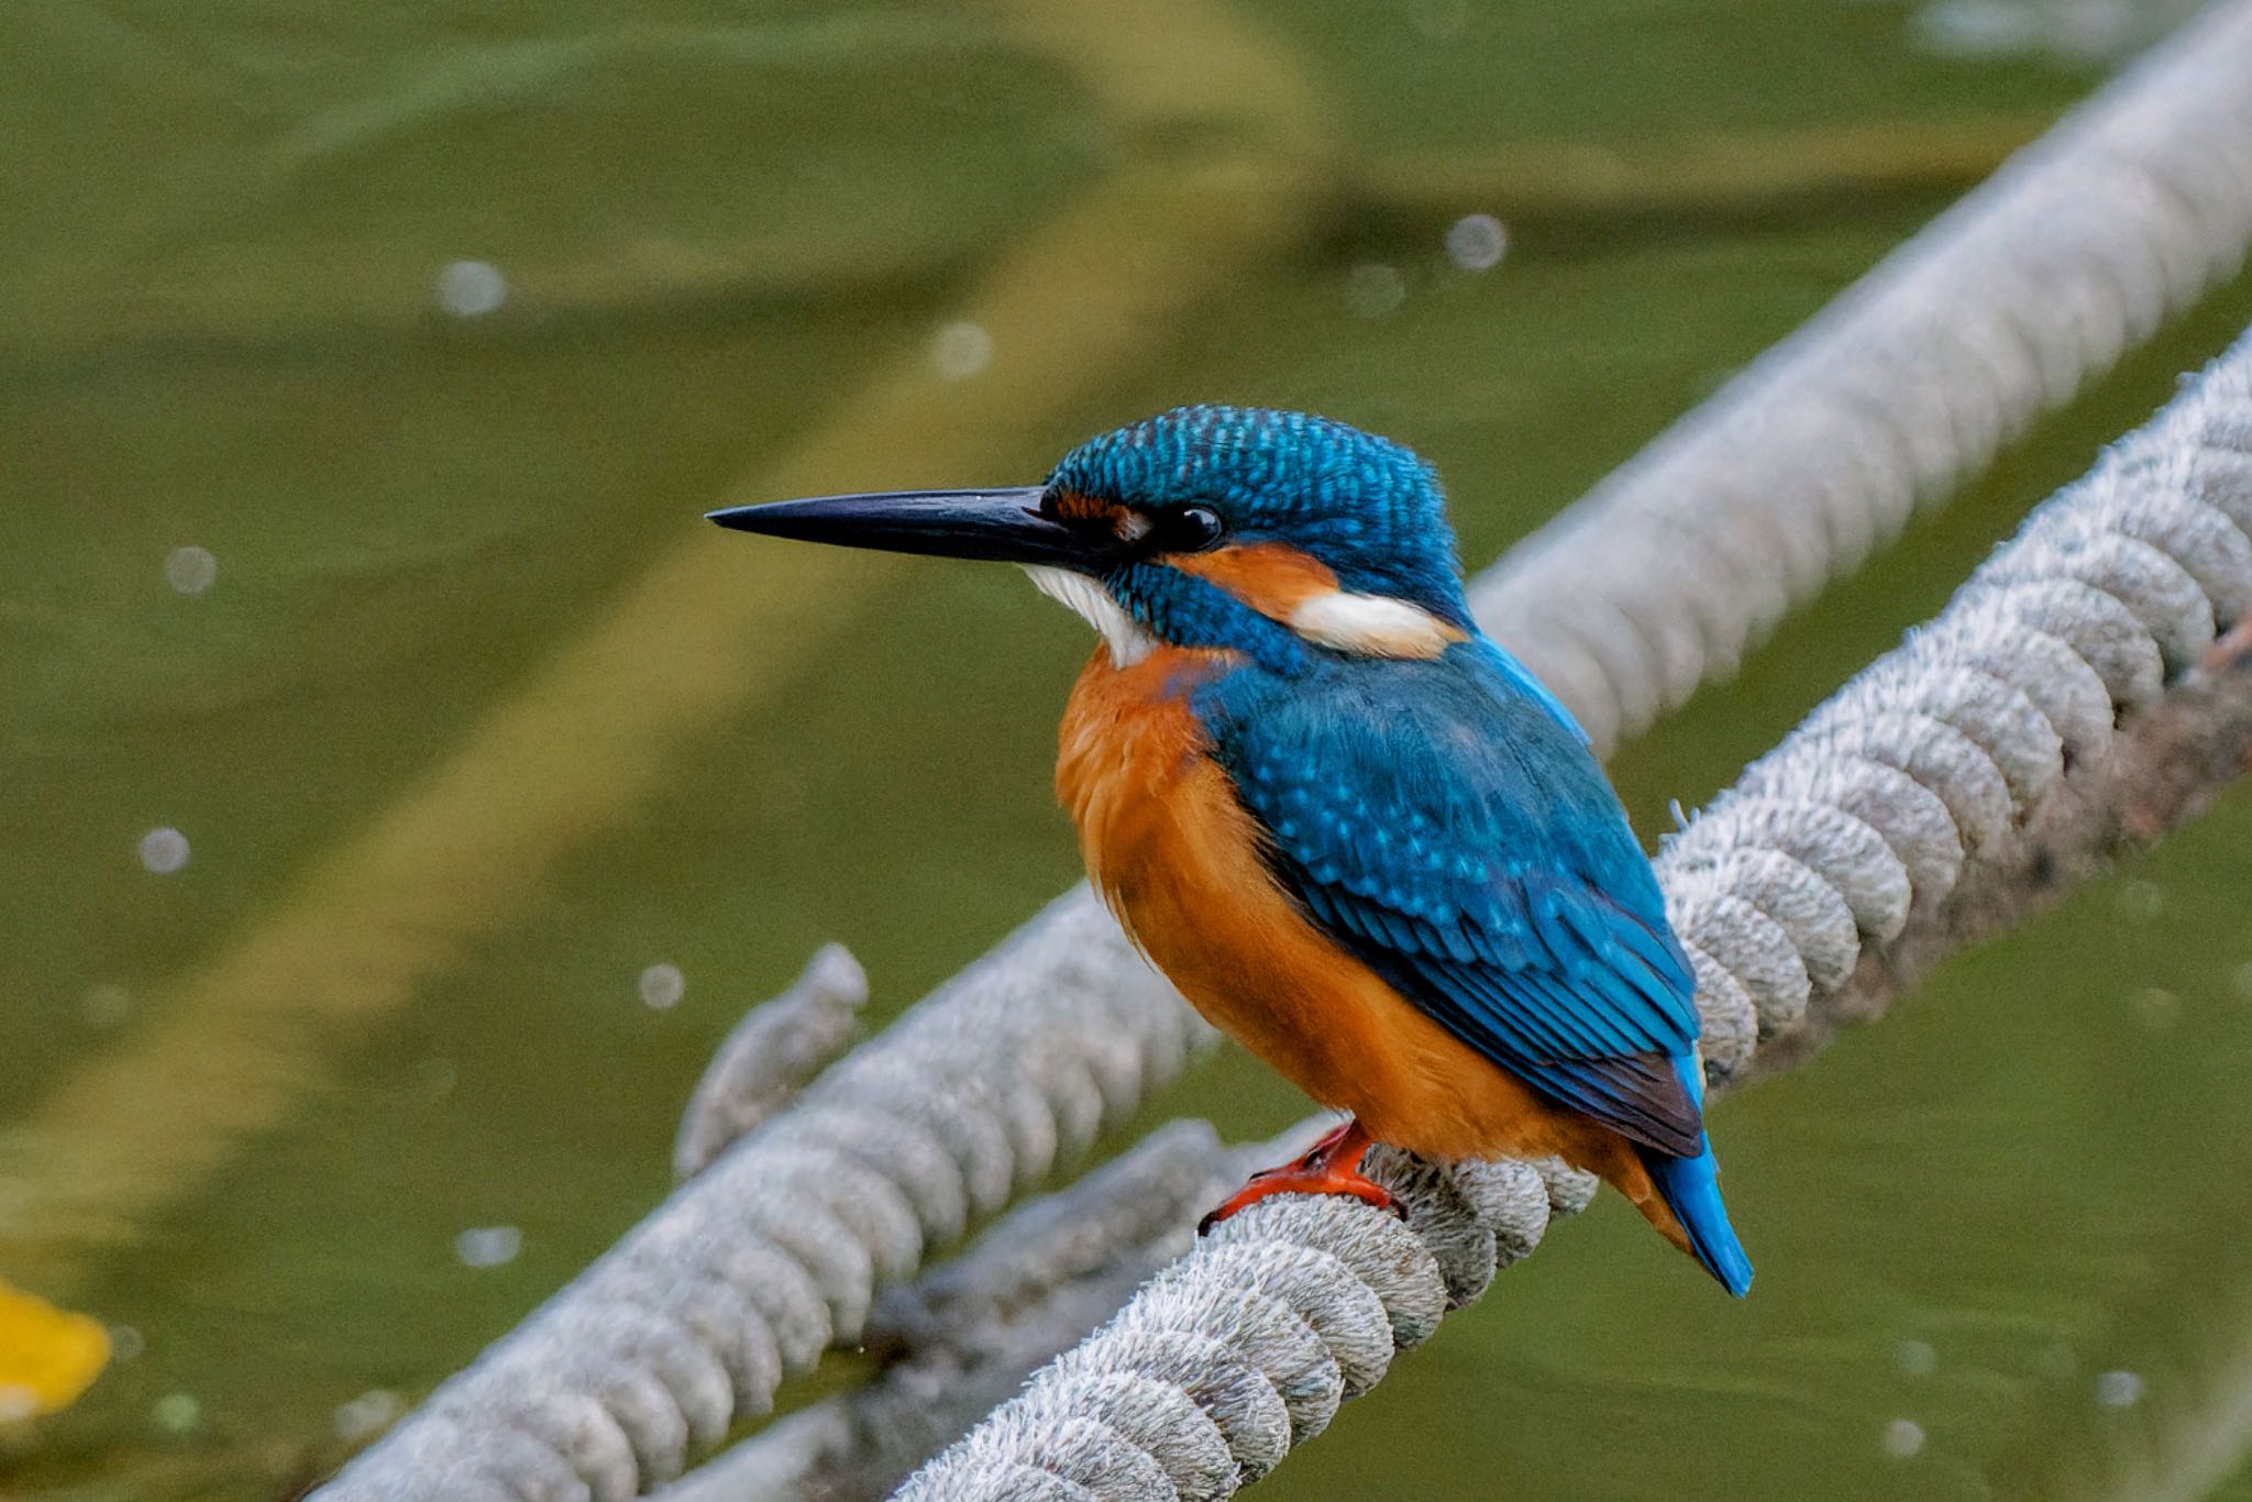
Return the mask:
M 878 495 L 815 495 L 763 507 L 727 507 L 709 520 L 736 531 L 840 547 L 1047 563 L 1092 570 L 1110 543 L 1108 531 L 1079 531 L 1040 513 L 1040 486 L 1000 491 L 885 491 Z

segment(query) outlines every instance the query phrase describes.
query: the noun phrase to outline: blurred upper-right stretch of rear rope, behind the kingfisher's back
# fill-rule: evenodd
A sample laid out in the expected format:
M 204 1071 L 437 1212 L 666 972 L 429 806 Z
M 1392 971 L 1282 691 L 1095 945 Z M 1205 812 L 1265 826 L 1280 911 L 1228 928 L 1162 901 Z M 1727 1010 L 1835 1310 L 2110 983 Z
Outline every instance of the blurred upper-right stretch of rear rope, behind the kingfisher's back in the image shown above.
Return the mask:
M 2252 7 L 2220 5 L 2011 158 L 1473 590 L 1599 748 L 1858 567 L 2047 405 L 2234 275 Z

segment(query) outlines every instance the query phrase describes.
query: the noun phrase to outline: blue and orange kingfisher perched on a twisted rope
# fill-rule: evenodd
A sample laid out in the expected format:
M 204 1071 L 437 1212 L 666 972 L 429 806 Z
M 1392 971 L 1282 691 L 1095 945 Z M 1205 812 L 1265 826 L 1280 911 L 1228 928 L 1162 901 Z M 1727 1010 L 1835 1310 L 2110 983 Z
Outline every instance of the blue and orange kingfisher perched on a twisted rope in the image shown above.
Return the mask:
M 1689 959 L 1585 732 L 1471 619 L 1421 457 L 1196 405 L 1045 484 L 712 520 L 1018 563 L 1101 633 L 1056 761 L 1094 887 L 1205 1018 L 1351 1112 L 1212 1218 L 1281 1191 L 1389 1205 L 1360 1171 L 1376 1142 L 1554 1153 L 1750 1288 Z

